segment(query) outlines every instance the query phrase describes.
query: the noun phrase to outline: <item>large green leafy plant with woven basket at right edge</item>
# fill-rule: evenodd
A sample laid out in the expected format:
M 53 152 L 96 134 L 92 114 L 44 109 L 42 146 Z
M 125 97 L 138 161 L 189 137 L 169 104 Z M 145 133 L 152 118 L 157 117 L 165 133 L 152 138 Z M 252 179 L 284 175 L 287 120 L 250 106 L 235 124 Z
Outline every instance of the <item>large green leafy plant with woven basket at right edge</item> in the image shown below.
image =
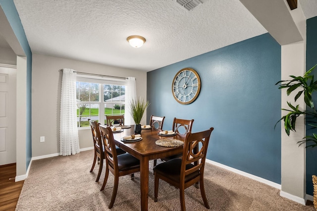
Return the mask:
M 294 100 L 296 100 L 304 94 L 304 101 L 306 104 L 306 109 L 300 110 L 299 105 L 293 106 L 291 103 L 287 102 L 288 106 L 291 109 L 284 109 L 289 111 L 285 116 L 282 116 L 279 121 L 284 120 L 284 127 L 285 132 L 289 136 L 290 131 L 296 132 L 295 130 L 295 123 L 296 118 L 300 115 L 305 115 L 306 123 L 310 126 L 311 129 L 317 128 L 317 111 L 316 107 L 314 105 L 313 101 L 313 93 L 317 91 L 317 80 L 314 81 L 314 75 L 312 74 L 312 71 L 315 69 L 317 64 L 312 67 L 310 70 L 308 70 L 304 76 L 293 76 L 290 77 L 293 78 L 292 80 L 286 80 L 286 81 L 279 81 L 275 85 L 279 85 L 279 89 L 287 88 L 287 95 L 290 95 L 293 91 L 298 90 L 297 88 L 300 88 L 298 93 L 296 94 Z M 276 123 L 277 124 L 277 123 Z M 275 126 L 276 126 L 275 124 Z M 314 130 L 316 131 L 316 130 Z M 300 145 L 306 143 L 306 148 L 308 147 L 317 147 L 317 133 L 313 132 L 313 135 L 306 136 L 303 138 L 303 140 L 297 142 Z M 314 207 L 317 210 L 317 177 L 313 175 L 313 184 L 314 184 Z

